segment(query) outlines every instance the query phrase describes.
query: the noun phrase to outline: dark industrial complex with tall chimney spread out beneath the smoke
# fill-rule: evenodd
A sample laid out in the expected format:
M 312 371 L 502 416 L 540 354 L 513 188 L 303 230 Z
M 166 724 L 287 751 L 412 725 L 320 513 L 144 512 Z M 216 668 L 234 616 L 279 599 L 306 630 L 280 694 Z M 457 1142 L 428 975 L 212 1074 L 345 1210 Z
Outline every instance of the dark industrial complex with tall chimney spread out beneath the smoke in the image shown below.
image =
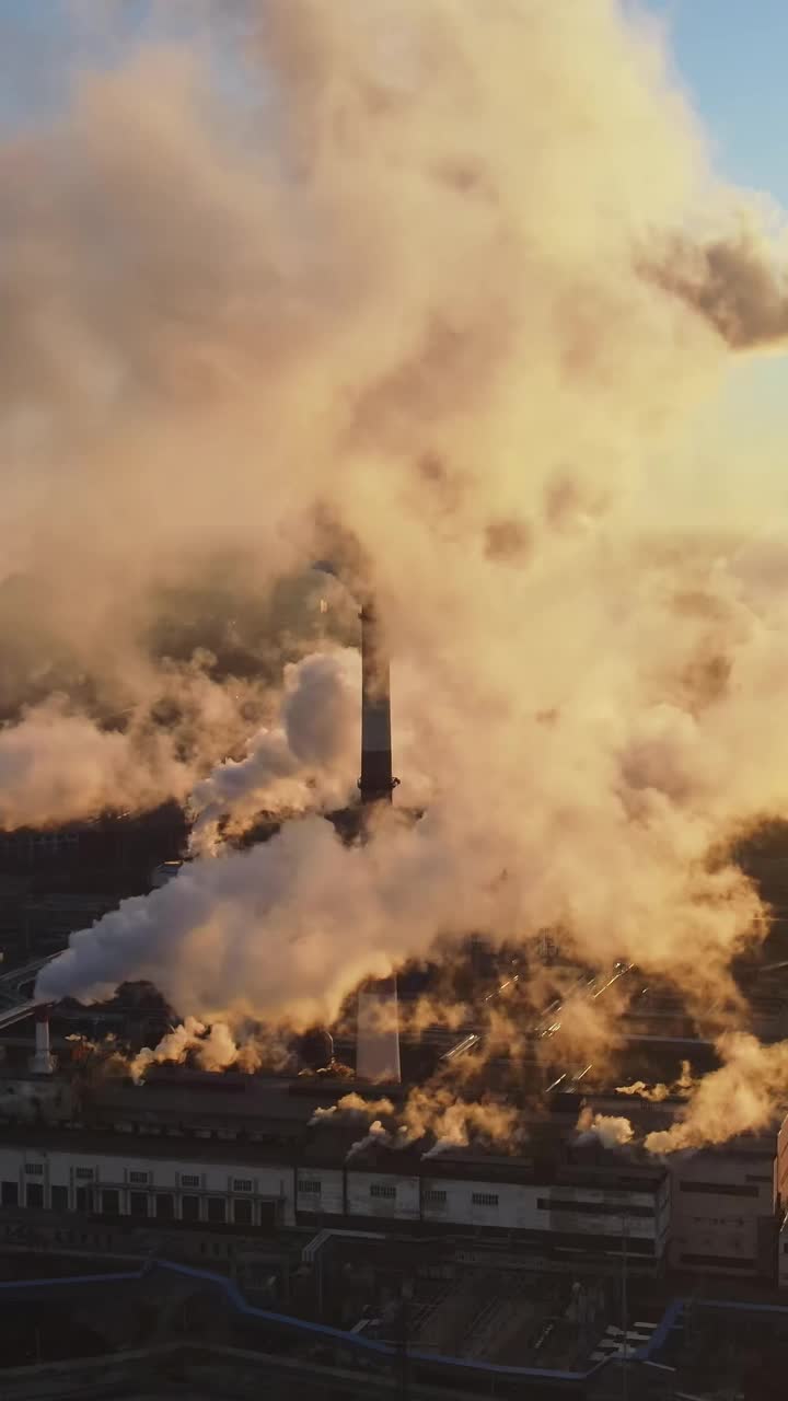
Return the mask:
M 372 602 L 360 616 L 360 804 L 332 815 L 344 841 L 384 839 L 369 818 L 395 787 L 388 664 Z M 147 888 L 178 874 L 172 818 L 158 831 L 167 841 L 142 842 Z M 64 835 L 62 846 L 79 852 Z M 115 850 L 128 873 L 129 843 Z M 659 1356 L 676 1352 L 676 1302 L 697 1295 L 698 1281 L 711 1300 L 733 1289 L 742 1307 L 771 1309 L 764 1317 L 782 1337 L 788 1124 L 665 1157 L 638 1146 L 681 1117 L 681 1065 L 708 1069 L 715 1049 L 680 999 L 644 986 L 637 968 L 582 969 L 545 939 L 543 985 L 550 975 L 569 991 L 536 1006 L 527 967 L 506 972 L 470 940 L 477 999 L 461 1026 L 414 1027 L 423 976 L 405 971 L 400 986 L 365 984 L 355 1019 L 315 1028 L 278 1072 L 209 1072 L 185 1055 L 136 1083 L 130 1058 L 167 1030 L 168 1009 L 144 986 L 107 1006 L 45 1006 L 34 985 L 53 953 L 28 940 L 0 976 L 0 1255 L 15 1338 L 35 1334 L 42 1367 L 48 1359 L 62 1373 L 67 1356 L 81 1356 L 59 1337 L 63 1310 L 79 1337 L 88 1293 L 112 1283 L 137 1300 L 130 1320 L 153 1268 L 179 1303 L 156 1335 L 164 1352 L 137 1348 L 129 1376 L 167 1370 L 175 1356 L 181 1372 L 193 1367 L 199 1318 L 199 1344 L 213 1349 L 227 1395 L 245 1394 L 244 1369 L 227 1352 L 238 1339 L 250 1356 L 286 1355 L 296 1372 L 278 1363 L 282 1386 L 311 1377 L 304 1395 L 366 1394 L 370 1367 L 386 1394 L 401 1386 L 402 1358 L 412 1395 L 603 1397 L 620 1394 L 621 1367 L 638 1373 L 631 1394 L 673 1395 L 655 1390 L 676 1370 Z M 773 984 L 753 988 L 757 1030 L 777 1040 L 784 1003 Z M 571 999 L 610 996 L 620 998 L 620 1059 L 644 1093 L 617 1086 L 593 1055 L 579 1063 L 576 1041 L 562 1038 Z M 519 1026 L 510 1054 L 488 1044 L 491 1005 Z M 655 1080 L 663 1093 L 649 1096 Z M 451 1114 L 408 1119 L 414 1096 L 454 1107 L 461 1132 L 442 1131 Z M 470 1097 L 484 1112 L 466 1121 Z M 503 1125 L 491 1129 L 485 1115 L 502 1110 Z M 209 1325 L 206 1290 L 219 1300 Z M 101 1358 L 130 1356 L 142 1325 L 122 1335 L 107 1320 L 90 1327 Z M 18 1358 L 10 1349 L 10 1395 L 28 1394 L 29 1346 L 18 1342 Z M 111 1386 L 108 1366 L 91 1363 L 97 1394 Z M 337 1379 L 345 1390 L 317 1390 Z

